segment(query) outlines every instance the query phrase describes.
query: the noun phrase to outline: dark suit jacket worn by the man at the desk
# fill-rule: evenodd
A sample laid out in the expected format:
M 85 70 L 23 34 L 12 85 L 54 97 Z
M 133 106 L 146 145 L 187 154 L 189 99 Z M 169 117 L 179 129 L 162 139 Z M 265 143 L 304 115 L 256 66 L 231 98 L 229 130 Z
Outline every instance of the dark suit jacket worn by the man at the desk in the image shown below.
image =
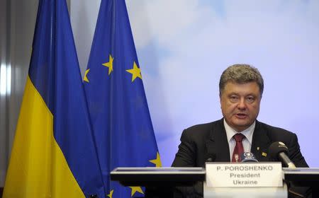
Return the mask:
M 289 158 L 297 167 L 308 167 L 301 154 L 296 134 L 256 121 L 251 152 L 254 153 L 258 161 L 276 161 L 269 158 L 268 155 L 268 148 L 274 141 L 282 141 L 286 144 L 289 148 Z M 230 162 L 230 151 L 223 119 L 185 129 L 181 134 L 181 144 L 179 144 L 179 151 L 177 151 L 172 166 L 205 167 L 207 159 L 212 155 L 215 162 Z M 298 197 L 292 194 L 294 192 L 308 194 L 309 188 L 292 187 L 289 197 Z M 202 196 L 201 183 L 194 187 L 177 187 L 174 192 L 174 197 Z

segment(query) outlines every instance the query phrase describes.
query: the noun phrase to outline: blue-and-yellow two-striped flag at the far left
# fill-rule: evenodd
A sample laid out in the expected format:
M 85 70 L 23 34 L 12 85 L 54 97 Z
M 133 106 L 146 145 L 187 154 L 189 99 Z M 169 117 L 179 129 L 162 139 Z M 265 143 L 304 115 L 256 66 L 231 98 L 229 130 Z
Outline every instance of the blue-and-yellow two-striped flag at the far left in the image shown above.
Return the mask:
M 105 197 L 65 0 L 40 0 L 4 197 Z

